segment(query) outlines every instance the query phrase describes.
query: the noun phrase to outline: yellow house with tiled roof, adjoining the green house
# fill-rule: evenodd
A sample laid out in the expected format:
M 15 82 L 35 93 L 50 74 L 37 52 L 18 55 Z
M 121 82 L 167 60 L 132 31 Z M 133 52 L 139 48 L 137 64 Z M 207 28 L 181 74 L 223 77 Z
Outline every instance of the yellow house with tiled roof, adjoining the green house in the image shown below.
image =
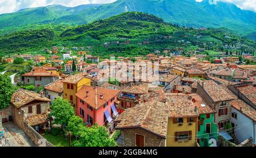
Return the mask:
M 167 147 L 195 147 L 199 113 L 187 94 L 166 94 Z

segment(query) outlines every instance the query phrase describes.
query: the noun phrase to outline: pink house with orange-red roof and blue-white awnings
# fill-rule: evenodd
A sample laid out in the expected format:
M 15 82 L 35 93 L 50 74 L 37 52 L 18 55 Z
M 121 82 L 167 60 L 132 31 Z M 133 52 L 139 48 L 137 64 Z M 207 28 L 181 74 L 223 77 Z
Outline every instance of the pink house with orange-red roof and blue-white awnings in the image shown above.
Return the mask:
M 100 126 L 113 124 L 118 115 L 115 101 L 119 90 L 83 86 L 77 96 L 76 113 L 88 126 L 97 123 Z

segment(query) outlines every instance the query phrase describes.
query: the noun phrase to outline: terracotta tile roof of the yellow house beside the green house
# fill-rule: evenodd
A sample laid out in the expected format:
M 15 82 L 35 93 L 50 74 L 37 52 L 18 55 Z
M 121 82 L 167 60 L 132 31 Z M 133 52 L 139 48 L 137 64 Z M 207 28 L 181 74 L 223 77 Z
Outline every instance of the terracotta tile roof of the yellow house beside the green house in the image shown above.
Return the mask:
M 166 94 L 165 96 L 169 118 L 199 117 L 199 113 L 195 110 L 195 105 L 189 99 L 189 95 Z

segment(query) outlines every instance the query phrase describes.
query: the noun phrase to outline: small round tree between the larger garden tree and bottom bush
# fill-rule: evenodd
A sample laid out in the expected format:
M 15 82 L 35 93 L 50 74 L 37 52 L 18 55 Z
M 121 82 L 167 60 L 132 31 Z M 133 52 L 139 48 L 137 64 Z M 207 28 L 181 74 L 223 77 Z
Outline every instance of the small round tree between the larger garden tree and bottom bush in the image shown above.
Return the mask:
M 67 129 L 68 131 L 71 131 L 72 135 L 78 135 L 78 132 L 81 130 L 81 128 L 85 127 L 84 121 L 78 117 L 73 116 L 71 119 L 69 119 Z

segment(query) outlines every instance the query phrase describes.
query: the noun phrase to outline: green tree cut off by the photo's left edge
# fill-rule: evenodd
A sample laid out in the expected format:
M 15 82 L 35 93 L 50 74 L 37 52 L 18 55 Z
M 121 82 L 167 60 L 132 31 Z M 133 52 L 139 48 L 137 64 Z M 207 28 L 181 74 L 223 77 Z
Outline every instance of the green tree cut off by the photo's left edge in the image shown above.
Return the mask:
M 0 110 L 9 107 L 11 95 L 14 93 L 14 86 L 11 84 L 11 78 L 5 74 L 0 74 Z

